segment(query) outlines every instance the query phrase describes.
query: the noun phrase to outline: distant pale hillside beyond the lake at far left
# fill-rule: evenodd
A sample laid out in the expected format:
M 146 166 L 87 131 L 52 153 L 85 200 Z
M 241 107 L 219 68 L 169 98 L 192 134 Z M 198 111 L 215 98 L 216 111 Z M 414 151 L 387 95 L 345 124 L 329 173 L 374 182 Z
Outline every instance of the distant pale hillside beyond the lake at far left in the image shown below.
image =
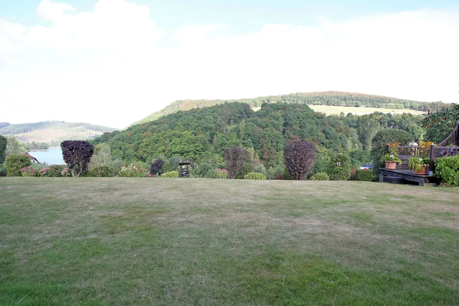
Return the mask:
M 0 134 L 15 136 L 25 142 L 62 142 L 64 140 L 86 140 L 101 136 L 104 132 L 118 130 L 83 122 L 44 121 L 10 125 L 0 123 Z

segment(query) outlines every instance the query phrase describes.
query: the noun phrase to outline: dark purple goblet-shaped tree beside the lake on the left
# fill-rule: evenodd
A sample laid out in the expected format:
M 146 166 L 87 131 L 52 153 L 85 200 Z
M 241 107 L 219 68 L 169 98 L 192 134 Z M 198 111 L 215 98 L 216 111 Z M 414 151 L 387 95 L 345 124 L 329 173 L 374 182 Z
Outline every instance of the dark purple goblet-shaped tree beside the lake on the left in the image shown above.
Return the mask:
M 94 153 L 92 144 L 85 140 L 66 140 L 61 142 L 62 156 L 68 164 L 72 176 L 80 176 L 88 169 L 91 156 Z

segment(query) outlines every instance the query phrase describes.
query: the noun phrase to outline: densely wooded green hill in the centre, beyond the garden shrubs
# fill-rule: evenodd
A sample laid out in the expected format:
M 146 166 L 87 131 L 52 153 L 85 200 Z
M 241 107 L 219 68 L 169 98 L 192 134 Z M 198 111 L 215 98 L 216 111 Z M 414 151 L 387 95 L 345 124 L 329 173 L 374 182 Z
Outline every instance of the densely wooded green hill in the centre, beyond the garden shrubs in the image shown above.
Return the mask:
M 381 128 L 407 130 L 413 140 L 424 133 L 422 115 L 326 116 L 305 104 L 265 103 L 257 112 L 251 106 L 230 102 L 179 111 L 127 130 L 104 133 L 91 142 L 108 143 L 112 155 L 128 162 L 150 162 L 159 156 L 199 161 L 221 154 L 225 147 L 243 146 L 253 148 L 265 166 L 273 166 L 286 142 L 302 139 L 331 151 L 347 151 L 358 164 L 369 161 L 371 139 Z

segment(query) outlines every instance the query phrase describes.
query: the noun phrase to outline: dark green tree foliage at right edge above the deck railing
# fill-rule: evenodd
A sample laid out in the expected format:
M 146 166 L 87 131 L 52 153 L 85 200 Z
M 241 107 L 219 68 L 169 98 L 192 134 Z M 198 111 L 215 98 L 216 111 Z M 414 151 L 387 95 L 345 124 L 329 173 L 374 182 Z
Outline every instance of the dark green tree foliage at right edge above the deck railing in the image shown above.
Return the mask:
M 428 112 L 422 123 L 425 127 L 427 140 L 440 143 L 451 134 L 459 123 L 459 104 L 439 108 Z M 455 140 L 452 141 L 453 144 Z

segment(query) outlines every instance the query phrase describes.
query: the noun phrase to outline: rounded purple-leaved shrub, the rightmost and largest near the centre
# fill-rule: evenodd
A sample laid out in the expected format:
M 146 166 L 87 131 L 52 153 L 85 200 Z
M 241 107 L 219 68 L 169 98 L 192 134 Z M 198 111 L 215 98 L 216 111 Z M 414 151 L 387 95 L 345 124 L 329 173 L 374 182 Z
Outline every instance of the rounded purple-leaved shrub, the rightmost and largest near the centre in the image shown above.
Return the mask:
M 284 148 L 284 163 L 293 180 L 303 180 L 314 167 L 317 149 L 311 142 L 294 141 Z

